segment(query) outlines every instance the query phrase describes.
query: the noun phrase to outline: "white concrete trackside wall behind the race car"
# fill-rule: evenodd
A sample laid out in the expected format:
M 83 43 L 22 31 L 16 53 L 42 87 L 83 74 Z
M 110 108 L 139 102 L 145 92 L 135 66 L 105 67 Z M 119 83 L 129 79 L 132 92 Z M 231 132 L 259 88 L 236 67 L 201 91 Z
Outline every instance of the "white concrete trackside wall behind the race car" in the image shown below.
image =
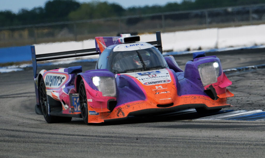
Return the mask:
M 162 33 L 163 50 L 203 50 L 238 46 L 265 45 L 265 25 Z M 155 34 L 140 35 L 142 42 L 155 41 Z M 57 42 L 35 45 L 36 54 L 95 48 L 94 39 L 81 42 Z

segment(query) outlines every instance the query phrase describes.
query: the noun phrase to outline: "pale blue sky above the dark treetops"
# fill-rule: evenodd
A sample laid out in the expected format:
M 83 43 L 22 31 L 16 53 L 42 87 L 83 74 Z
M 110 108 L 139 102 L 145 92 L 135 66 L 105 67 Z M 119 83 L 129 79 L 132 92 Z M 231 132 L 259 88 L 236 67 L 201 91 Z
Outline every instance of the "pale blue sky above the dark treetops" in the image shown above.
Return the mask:
M 11 10 L 14 13 L 18 13 L 18 11 L 22 8 L 31 10 L 34 7 L 44 7 L 45 3 L 48 0 L 0 0 L 0 11 Z M 91 2 L 92 0 L 76 0 L 80 3 Z M 128 8 L 132 6 L 153 6 L 153 5 L 165 5 L 169 2 L 182 2 L 182 0 L 101 0 L 108 1 L 109 3 L 117 3 L 121 5 L 123 8 Z

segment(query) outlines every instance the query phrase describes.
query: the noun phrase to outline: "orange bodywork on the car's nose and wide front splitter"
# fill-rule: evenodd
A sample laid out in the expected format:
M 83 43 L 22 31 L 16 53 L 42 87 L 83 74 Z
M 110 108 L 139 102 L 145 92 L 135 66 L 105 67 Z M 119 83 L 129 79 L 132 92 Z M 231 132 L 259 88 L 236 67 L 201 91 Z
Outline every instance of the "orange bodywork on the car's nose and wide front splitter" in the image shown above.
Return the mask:
M 178 109 L 188 109 L 194 108 L 196 104 L 204 104 L 207 107 L 230 107 L 230 104 L 227 104 L 227 99 L 223 98 L 224 94 L 220 95 L 220 98 L 217 100 L 211 99 L 209 96 L 204 95 L 181 95 L 178 96 L 176 83 L 174 78 L 171 76 L 171 82 L 166 84 L 155 84 L 155 85 L 144 85 L 136 78 L 133 78 L 134 81 L 142 87 L 142 91 L 145 94 L 145 100 L 137 100 L 135 102 L 129 102 L 117 106 L 114 108 L 112 112 L 100 112 L 98 115 L 89 115 L 90 123 L 100 123 L 106 120 L 112 120 L 117 118 L 125 118 L 130 115 L 130 113 L 139 112 L 141 113 L 149 113 L 148 111 L 152 111 L 154 113 L 164 112 L 164 111 L 172 111 Z M 157 88 L 158 87 L 158 88 Z M 227 96 L 233 96 L 228 90 L 226 92 Z M 159 107 L 158 105 L 161 105 Z M 172 106 L 170 106 L 172 105 Z M 182 106 L 183 105 L 183 106 Z M 169 107 L 167 107 L 169 106 Z M 94 111 L 89 106 L 88 109 Z M 147 112 L 145 112 L 145 110 Z

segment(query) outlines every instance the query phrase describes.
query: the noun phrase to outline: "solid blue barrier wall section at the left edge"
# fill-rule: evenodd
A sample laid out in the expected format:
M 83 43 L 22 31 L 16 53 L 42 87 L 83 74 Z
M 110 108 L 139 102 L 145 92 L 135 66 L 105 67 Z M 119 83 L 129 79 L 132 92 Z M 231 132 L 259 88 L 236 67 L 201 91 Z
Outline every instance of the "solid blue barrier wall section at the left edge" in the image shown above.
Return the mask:
M 30 46 L 8 47 L 0 49 L 0 63 L 31 60 Z

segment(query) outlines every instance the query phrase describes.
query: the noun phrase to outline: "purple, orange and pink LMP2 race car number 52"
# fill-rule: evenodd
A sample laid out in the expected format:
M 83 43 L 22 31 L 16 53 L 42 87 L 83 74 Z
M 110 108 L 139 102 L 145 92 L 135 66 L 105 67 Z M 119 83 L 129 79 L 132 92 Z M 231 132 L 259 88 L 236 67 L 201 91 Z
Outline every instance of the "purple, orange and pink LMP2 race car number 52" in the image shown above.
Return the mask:
M 95 37 L 95 49 L 36 55 L 31 46 L 35 111 L 48 123 L 83 118 L 86 124 L 128 116 L 195 108 L 197 112 L 230 107 L 232 82 L 223 73 L 216 56 L 193 53 L 193 60 L 179 68 L 173 56 L 162 55 L 157 41 L 138 42 L 139 36 Z M 42 70 L 37 62 L 99 54 L 95 70 L 81 66 Z

